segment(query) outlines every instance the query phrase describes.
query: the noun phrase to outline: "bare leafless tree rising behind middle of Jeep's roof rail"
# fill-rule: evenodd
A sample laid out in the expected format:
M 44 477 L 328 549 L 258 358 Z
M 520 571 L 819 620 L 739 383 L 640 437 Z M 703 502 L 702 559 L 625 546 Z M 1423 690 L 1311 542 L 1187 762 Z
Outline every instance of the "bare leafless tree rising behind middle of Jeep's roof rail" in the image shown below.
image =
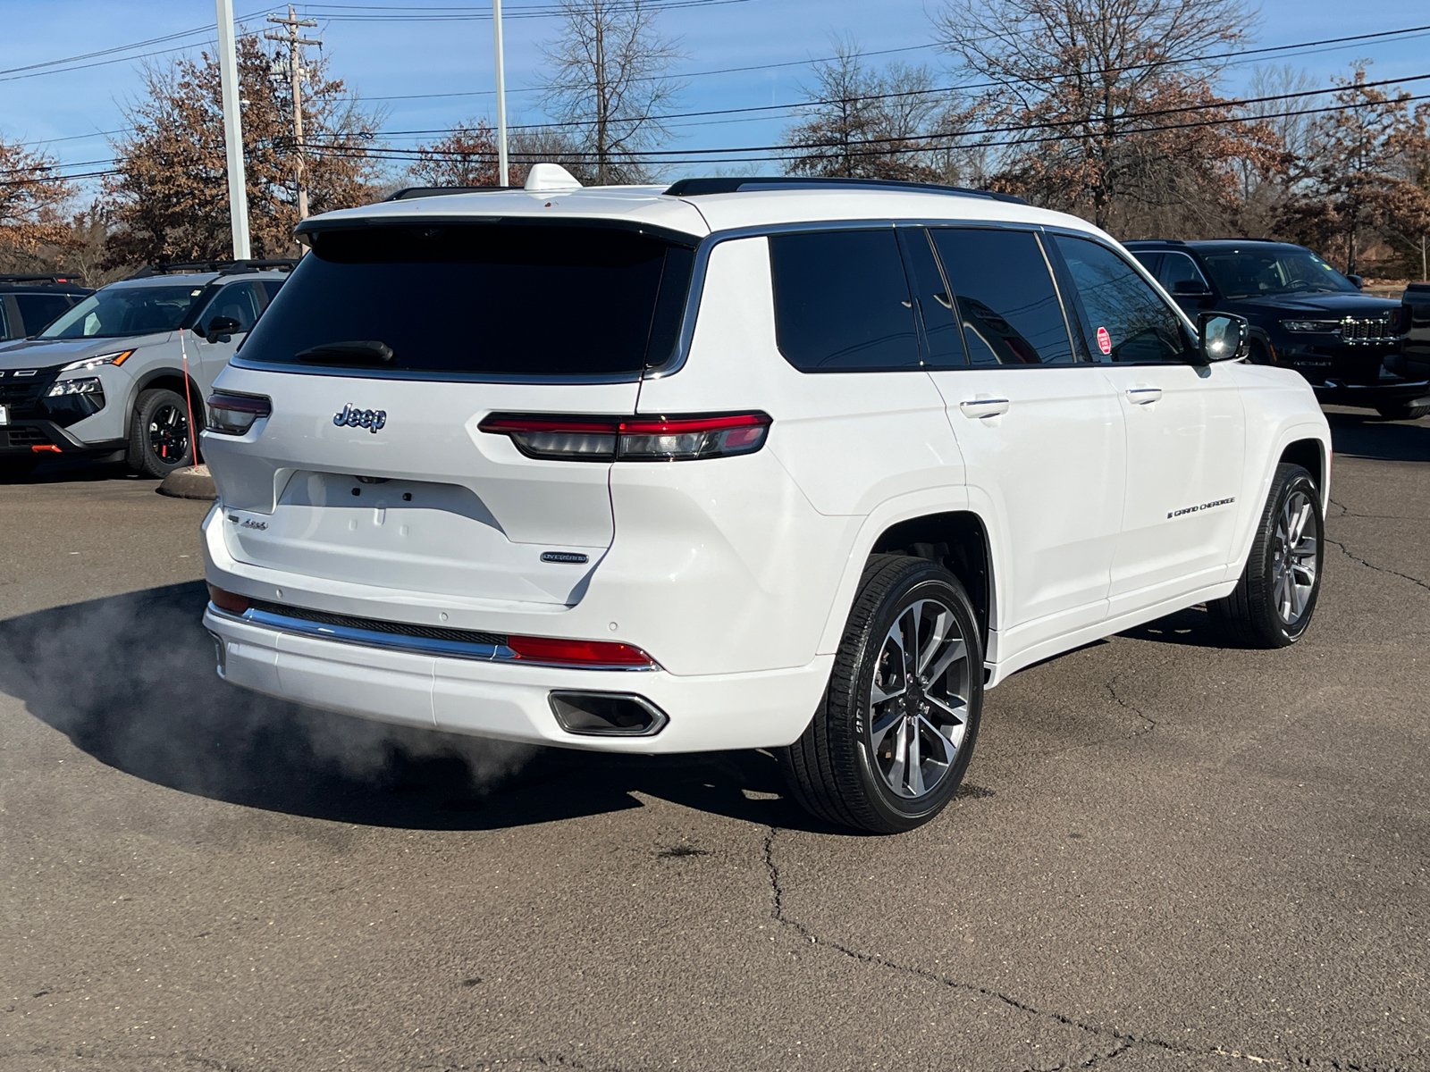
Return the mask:
M 957 182 L 958 159 L 948 136 L 962 113 L 935 86 L 927 66 L 865 66 L 852 39 L 834 43 L 832 60 L 815 64 L 804 87 L 809 101 L 784 144 L 791 174 L 845 179 Z

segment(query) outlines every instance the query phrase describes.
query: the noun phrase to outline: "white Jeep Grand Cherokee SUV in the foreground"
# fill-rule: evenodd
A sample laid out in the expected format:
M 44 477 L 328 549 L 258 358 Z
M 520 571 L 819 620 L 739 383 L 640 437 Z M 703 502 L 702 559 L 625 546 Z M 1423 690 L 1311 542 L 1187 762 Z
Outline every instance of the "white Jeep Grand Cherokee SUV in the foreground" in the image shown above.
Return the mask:
M 685 180 L 317 216 L 203 433 L 229 682 L 611 752 L 781 749 L 925 822 L 985 688 L 1197 603 L 1281 646 L 1330 439 L 1088 223 Z

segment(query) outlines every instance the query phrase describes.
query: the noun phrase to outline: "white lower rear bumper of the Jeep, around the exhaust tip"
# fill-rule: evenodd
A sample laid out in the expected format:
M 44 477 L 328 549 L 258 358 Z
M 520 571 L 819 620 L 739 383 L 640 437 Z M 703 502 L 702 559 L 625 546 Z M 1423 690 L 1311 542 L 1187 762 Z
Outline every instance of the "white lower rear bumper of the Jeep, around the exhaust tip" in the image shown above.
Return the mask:
M 204 612 L 219 673 L 256 692 L 379 722 L 599 752 L 779 748 L 809 723 L 834 656 L 754 673 L 575 670 L 385 650 Z M 632 693 L 668 722 L 652 736 L 586 736 L 558 723 L 553 690 Z

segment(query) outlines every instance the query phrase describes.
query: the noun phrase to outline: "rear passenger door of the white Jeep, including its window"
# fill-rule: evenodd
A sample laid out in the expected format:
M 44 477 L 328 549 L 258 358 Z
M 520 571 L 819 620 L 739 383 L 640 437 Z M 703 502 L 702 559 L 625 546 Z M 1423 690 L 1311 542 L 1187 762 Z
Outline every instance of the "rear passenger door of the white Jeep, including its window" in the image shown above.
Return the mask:
M 931 227 L 905 239 L 928 336 L 967 347 L 967 359 L 931 376 L 970 497 L 991 512 L 991 539 L 1004 547 L 990 657 L 1040 643 L 1051 653 L 1058 637 L 1107 617 L 1125 486 L 1123 410 L 1101 370 L 1074 356 L 1037 233 Z

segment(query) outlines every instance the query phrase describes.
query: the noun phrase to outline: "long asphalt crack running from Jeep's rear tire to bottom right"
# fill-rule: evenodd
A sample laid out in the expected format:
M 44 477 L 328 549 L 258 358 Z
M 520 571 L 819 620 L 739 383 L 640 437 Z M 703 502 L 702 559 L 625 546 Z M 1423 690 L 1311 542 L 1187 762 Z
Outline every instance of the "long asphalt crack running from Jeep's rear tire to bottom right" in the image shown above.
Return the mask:
M 1115 680 L 1115 678 L 1113 680 Z M 1111 690 L 1111 685 L 1108 686 L 1108 689 Z M 1114 699 L 1117 699 L 1115 693 Z M 1123 700 L 1118 700 L 1118 703 L 1123 703 Z M 1141 712 L 1138 712 L 1138 715 L 1141 715 Z M 1147 716 L 1141 715 L 1141 718 Z M 1157 725 L 1151 719 L 1147 720 L 1153 726 Z M 1143 732 L 1145 733 L 1148 730 Z M 1236 1058 L 1253 1065 L 1300 1065 L 1301 1068 L 1311 1068 L 1313 1066 L 1311 1062 L 1316 1061 L 1318 1063 L 1330 1066 L 1331 1069 L 1346 1069 L 1346 1072 L 1407 1072 L 1407 1069 L 1401 1068 L 1391 1068 L 1391 1066 L 1380 1068 L 1380 1066 L 1357 1065 L 1354 1062 L 1341 1063 L 1338 1061 L 1327 1058 L 1307 1059 L 1307 1058 L 1293 1058 L 1290 1055 L 1286 1059 L 1264 1058 L 1238 1049 L 1227 1049 L 1224 1046 L 1211 1046 L 1211 1048 L 1183 1046 L 1175 1042 L 1168 1042 L 1165 1039 L 1160 1039 L 1150 1035 L 1133 1035 L 1131 1032 L 1120 1031 L 1118 1028 L 1100 1026 L 1095 1023 L 1084 1023 L 1075 1016 L 1067 1016 L 1061 1012 L 1054 1012 L 1051 1009 L 1040 1009 L 1035 1005 L 1030 1005 L 1028 1002 L 1020 1001 L 1011 995 L 1002 993 L 1001 991 L 995 991 L 990 986 L 980 986 L 978 983 L 970 983 L 961 979 L 951 979 L 947 975 L 931 972 L 927 968 L 917 968 L 912 965 L 899 963 L 898 961 L 891 961 L 887 956 L 879 956 L 877 953 L 865 953 L 858 949 L 851 949 L 849 946 L 842 945 L 841 942 L 835 942 L 834 939 L 821 938 L 819 935 L 814 933 L 814 930 L 811 930 L 808 926 L 801 923 L 798 919 L 792 919 L 785 912 L 785 892 L 779 880 L 779 865 L 775 862 L 775 835 L 779 832 L 779 829 L 781 828 L 778 826 L 771 826 L 765 833 L 765 840 L 764 840 L 765 872 L 769 876 L 769 890 L 772 900 L 769 915 L 774 918 L 776 923 L 789 928 L 797 935 L 808 941 L 811 945 L 825 946 L 827 949 L 832 949 L 838 953 L 842 953 L 851 961 L 857 961 L 859 963 L 867 963 L 867 965 L 875 965 L 879 968 L 888 968 L 889 971 L 902 972 L 905 975 L 912 975 L 919 979 L 927 979 L 930 982 L 940 983 L 941 986 L 948 986 L 950 989 L 978 993 L 985 998 L 992 998 L 994 1001 L 1002 1002 L 1004 1005 L 1017 1009 L 1018 1012 L 1024 1012 L 1030 1016 L 1051 1019 L 1058 1023 L 1062 1023 L 1064 1026 L 1084 1031 L 1088 1035 L 1097 1038 L 1115 1039 L 1115 1045 L 1111 1049 L 1108 1049 L 1105 1053 L 1094 1053 L 1078 1068 L 1097 1068 L 1100 1062 L 1113 1061 L 1114 1058 L 1121 1056 L 1134 1046 L 1147 1046 L 1150 1049 L 1161 1049 L 1170 1053 L 1180 1053 L 1183 1056 L 1193 1056 L 1193 1058 L 1207 1058 L 1207 1056 Z M 1058 1072 L 1060 1069 L 1065 1068 L 1067 1063 L 1064 1062 L 1061 1065 L 1057 1065 L 1055 1069 L 1052 1069 L 1051 1072 Z

